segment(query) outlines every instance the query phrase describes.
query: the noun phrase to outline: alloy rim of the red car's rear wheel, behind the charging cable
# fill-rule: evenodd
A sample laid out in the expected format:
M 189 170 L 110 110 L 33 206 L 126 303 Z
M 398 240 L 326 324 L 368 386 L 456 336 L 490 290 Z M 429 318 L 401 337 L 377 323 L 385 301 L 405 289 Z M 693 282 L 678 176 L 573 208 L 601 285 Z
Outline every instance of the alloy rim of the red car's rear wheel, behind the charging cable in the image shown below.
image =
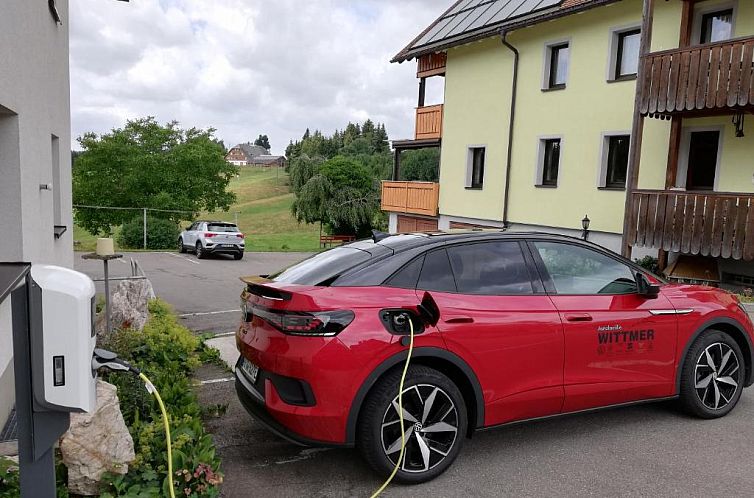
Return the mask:
M 398 396 L 382 417 L 382 449 L 393 465 L 401 450 Z M 441 464 L 458 437 L 458 411 L 448 394 L 429 384 L 417 384 L 403 391 L 403 421 L 406 450 L 401 463 L 404 472 L 427 472 Z

